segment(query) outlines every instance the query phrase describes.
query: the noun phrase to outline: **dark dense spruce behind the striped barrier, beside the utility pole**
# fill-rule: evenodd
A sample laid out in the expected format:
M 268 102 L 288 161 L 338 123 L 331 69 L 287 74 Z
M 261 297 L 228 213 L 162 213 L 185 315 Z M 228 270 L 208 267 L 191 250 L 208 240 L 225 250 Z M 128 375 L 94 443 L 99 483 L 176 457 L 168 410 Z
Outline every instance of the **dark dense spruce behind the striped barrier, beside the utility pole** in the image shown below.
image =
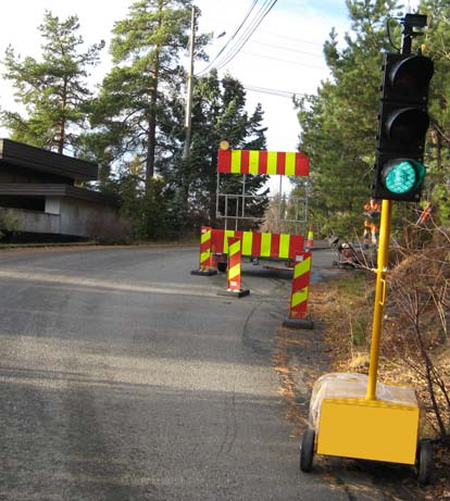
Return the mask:
M 253 113 L 246 111 L 242 84 L 225 75 L 218 79 L 216 71 L 196 82 L 192 109 L 192 142 L 190 203 L 211 224 L 215 222 L 215 192 L 241 193 L 242 176 L 222 175 L 217 187 L 217 150 L 221 140 L 232 149 L 265 149 L 263 111 L 258 104 Z M 255 195 L 267 180 L 265 175 L 247 175 L 246 193 Z M 224 200 L 222 199 L 222 202 Z M 267 206 L 266 199 L 247 200 L 246 213 L 261 217 Z M 222 210 L 223 212 L 223 210 Z M 254 226 L 253 226 L 254 227 Z

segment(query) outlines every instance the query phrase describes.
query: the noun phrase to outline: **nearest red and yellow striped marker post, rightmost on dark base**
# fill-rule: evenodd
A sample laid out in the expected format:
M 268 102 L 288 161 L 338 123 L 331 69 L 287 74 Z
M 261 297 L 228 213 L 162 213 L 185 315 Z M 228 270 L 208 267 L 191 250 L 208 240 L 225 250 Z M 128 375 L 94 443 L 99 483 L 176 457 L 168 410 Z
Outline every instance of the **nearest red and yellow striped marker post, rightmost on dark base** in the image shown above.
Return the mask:
M 285 327 L 299 329 L 312 329 L 314 327 L 314 323 L 307 318 L 311 279 L 311 252 L 303 252 L 303 260 L 298 261 L 293 266 L 289 316 L 283 322 Z

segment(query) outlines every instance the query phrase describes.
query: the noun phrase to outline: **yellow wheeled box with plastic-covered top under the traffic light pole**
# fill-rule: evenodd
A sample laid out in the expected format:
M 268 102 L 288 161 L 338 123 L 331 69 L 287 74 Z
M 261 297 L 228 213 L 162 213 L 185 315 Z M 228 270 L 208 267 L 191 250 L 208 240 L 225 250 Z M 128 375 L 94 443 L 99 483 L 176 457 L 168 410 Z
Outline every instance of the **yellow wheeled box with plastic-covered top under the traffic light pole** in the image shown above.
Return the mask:
M 421 412 L 409 387 L 377 384 L 366 400 L 367 376 L 335 373 L 316 381 L 310 406 L 316 453 L 413 465 Z

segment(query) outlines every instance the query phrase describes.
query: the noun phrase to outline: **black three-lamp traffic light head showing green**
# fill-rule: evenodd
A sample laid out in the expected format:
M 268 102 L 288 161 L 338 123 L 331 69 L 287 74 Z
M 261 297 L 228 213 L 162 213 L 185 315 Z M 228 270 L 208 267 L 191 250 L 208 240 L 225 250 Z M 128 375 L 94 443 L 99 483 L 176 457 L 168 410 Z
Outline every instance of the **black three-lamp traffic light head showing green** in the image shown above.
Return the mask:
M 404 202 L 421 199 L 433 73 L 433 61 L 424 55 L 385 54 L 374 198 Z

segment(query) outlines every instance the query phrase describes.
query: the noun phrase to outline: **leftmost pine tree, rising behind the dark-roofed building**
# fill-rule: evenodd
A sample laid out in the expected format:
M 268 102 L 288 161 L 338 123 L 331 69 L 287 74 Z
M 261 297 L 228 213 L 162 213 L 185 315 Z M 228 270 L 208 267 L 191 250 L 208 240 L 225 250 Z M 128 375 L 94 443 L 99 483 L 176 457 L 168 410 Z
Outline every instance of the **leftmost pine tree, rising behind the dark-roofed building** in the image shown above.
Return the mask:
M 11 138 L 28 145 L 63 153 L 76 147 L 79 127 L 86 122 L 91 92 L 86 82 L 87 67 L 98 64 L 104 42 L 80 52 L 83 37 L 77 35 L 76 15 L 60 21 L 46 11 L 39 32 L 45 40 L 42 61 L 26 57 L 23 61 L 9 46 L 3 77 L 13 83 L 17 102 L 27 116 L 2 111 L 1 123 L 11 130 Z

